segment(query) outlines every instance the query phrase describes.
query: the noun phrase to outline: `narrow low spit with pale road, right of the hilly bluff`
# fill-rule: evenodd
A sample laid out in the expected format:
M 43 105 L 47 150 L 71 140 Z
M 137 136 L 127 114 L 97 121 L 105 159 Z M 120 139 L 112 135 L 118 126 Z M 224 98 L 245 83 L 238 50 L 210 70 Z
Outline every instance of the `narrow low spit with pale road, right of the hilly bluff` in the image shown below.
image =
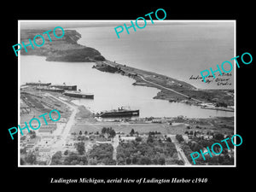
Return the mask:
M 186 82 L 172 79 L 165 75 L 152 73 L 116 63 L 115 61 L 95 61 L 99 71 L 107 73 L 119 73 L 136 82 L 133 85 L 154 87 L 160 90 L 154 99 L 167 100 L 169 102 L 184 102 L 186 104 L 201 106 L 212 110 L 234 112 L 229 106 L 234 105 L 234 90 L 199 90 Z M 207 107 L 205 106 L 207 104 Z

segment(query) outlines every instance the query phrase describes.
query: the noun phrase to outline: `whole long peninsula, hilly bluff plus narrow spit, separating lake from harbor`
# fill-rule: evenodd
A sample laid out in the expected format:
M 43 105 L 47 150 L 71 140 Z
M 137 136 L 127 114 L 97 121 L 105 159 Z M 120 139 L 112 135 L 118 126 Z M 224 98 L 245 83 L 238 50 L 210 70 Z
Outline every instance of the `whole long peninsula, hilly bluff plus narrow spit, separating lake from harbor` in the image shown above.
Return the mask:
M 29 38 L 32 39 L 43 32 L 42 29 L 21 30 L 20 41 L 29 44 Z M 49 35 L 53 36 L 50 32 Z M 134 85 L 159 89 L 160 92 L 154 96 L 154 99 L 201 105 L 201 108 L 234 111 L 232 108 L 234 106 L 234 90 L 199 90 L 191 84 L 165 75 L 125 66 L 115 61 L 107 61 L 98 50 L 78 44 L 79 38 L 81 38 L 79 32 L 66 29 L 63 38 L 52 38 L 52 42 L 45 38 L 44 46 L 35 47 L 35 49 L 27 46 L 26 49 L 29 50 L 26 52 L 21 49 L 20 54 L 46 56 L 46 61 L 96 62 L 94 67 L 102 72 L 120 73 L 135 79 Z

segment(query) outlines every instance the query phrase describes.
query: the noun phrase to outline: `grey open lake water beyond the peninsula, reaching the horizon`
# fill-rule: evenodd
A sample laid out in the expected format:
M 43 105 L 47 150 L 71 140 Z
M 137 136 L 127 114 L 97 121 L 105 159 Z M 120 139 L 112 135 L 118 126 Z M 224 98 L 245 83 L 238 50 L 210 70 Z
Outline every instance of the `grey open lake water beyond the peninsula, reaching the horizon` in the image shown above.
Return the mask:
M 119 23 L 116 24 L 119 26 Z M 128 25 L 129 26 L 129 25 Z M 137 32 L 130 29 L 117 38 L 115 26 L 75 28 L 81 35 L 79 44 L 99 50 L 106 59 L 131 67 L 165 74 L 201 89 L 234 89 L 201 80 L 189 80 L 205 69 L 217 69 L 234 57 L 233 22 L 155 23 Z M 235 67 L 234 67 L 235 68 Z

